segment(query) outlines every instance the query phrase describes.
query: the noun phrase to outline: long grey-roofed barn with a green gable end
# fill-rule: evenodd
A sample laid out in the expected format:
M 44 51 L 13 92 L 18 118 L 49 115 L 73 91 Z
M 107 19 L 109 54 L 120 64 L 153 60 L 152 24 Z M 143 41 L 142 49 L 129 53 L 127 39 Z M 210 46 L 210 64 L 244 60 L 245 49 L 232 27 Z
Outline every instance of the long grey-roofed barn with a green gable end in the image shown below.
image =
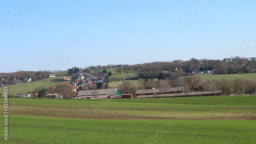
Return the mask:
M 79 99 L 107 98 L 108 96 L 120 97 L 121 93 L 119 92 L 118 89 L 79 91 L 76 98 L 79 98 Z

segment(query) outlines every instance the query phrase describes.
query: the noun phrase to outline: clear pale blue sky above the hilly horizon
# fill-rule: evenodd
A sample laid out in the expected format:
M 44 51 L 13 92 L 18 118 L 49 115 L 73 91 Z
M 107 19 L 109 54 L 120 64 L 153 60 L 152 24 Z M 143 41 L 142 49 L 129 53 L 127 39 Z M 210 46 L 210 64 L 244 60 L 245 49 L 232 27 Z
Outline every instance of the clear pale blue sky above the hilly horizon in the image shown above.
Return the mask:
M 0 6 L 0 72 L 256 57 L 253 0 L 3 0 Z

